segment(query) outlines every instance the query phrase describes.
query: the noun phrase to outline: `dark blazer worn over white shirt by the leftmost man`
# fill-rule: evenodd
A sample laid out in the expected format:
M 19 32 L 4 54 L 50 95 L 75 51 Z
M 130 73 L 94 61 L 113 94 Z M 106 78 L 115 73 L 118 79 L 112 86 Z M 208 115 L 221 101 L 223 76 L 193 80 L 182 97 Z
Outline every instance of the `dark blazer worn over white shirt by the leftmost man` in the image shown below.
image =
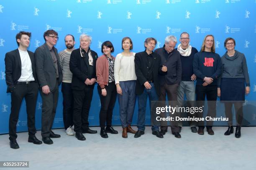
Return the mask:
M 32 64 L 32 72 L 35 81 L 36 78 L 36 69 L 35 69 L 35 56 L 34 53 L 28 51 L 28 55 Z M 10 93 L 15 89 L 15 85 L 18 82 L 18 79 L 21 76 L 21 60 L 19 50 L 13 50 L 5 54 L 5 81 L 7 84 L 7 93 Z

